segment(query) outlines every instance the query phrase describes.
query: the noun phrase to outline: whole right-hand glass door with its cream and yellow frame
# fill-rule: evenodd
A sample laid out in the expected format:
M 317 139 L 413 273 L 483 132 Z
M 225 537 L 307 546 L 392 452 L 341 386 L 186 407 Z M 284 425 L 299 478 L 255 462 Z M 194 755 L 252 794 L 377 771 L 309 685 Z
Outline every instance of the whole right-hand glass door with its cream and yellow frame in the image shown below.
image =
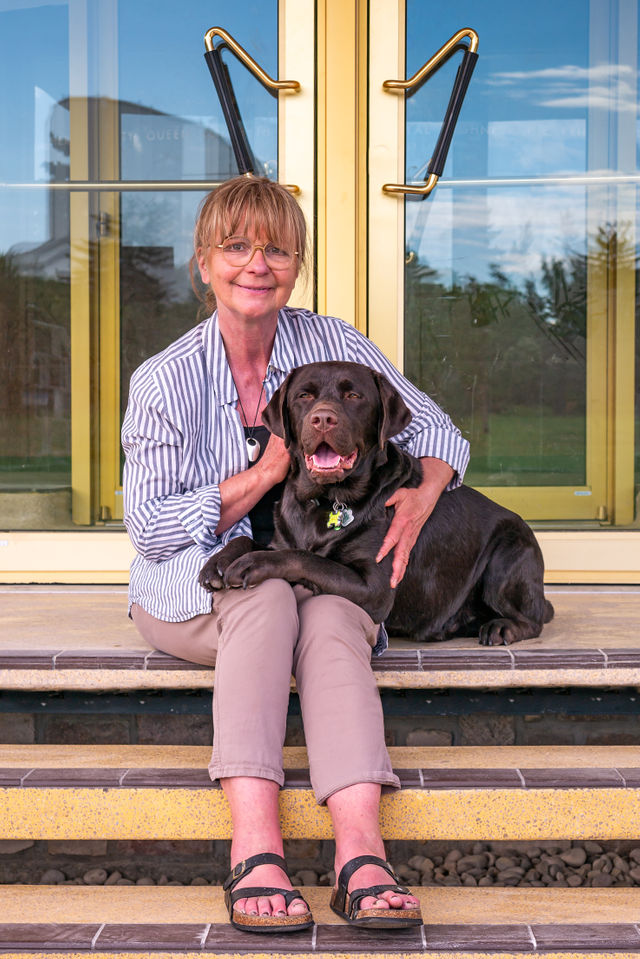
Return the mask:
M 407 0 L 393 19 L 371 17 L 370 335 L 468 436 L 471 485 L 532 520 L 629 523 L 637 4 Z M 442 179 L 385 194 L 425 180 L 460 62 L 387 92 L 390 53 L 411 78 L 461 27 L 479 60 Z

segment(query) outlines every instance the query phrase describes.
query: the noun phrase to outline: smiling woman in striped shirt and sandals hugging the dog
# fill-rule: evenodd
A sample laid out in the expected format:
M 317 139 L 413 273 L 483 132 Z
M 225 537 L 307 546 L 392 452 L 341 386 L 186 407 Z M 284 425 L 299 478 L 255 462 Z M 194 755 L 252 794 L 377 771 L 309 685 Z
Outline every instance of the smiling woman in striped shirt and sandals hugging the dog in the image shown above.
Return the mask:
M 194 249 L 216 309 L 132 377 L 122 431 L 125 524 L 137 550 L 130 614 L 140 633 L 157 649 L 216 665 L 209 772 L 220 779 L 233 823 L 229 916 L 250 931 L 312 922 L 300 893 L 291 892 L 278 815 L 293 673 L 312 785 L 334 826 L 332 907 L 356 924 L 419 924 L 417 900 L 384 862 L 378 827 L 382 787 L 399 787 L 370 665 L 372 649 L 384 645 L 380 624 L 341 597 L 312 596 L 282 580 L 213 599 L 197 580 L 233 537 L 253 529 L 268 539 L 289 459 L 283 441 L 259 425 L 260 414 L 296 366 L 366 363 L 413 413 L 396 442 L 422 458 L 424 480 L 389 501 L 394 519 L 378 561 L 394 550 L 393 586 L 440 493 L 461 482 L 467 443 L 349 324 L 287 307 L 306 267 L 306 232 L 279 184 L 238 177 L 209 194 Z

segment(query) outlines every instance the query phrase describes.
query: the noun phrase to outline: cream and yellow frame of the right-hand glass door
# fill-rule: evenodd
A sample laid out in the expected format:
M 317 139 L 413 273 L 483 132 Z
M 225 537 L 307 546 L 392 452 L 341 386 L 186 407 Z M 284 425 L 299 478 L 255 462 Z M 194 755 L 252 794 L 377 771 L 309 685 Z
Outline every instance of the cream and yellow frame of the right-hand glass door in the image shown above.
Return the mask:
M 369 335 L 402 368 L 403 365 L 403 267 L 404 200 L 382 192 L 384 183 L 404 182 L 404 97 L 383 91 L 382 84 L 404 78 L 405 2 L 373 3 L 369 25 Z M 470 24 L 460 24 L 470 26 Z M 472 26 L 472 25 L 471 25 Z M 626 29 L 626 28 L 625 28 Z M 635 37 L 635 33 L 633 34 Z M 446 37 L 434 38 L 434 50 Z M 635 42 L 635 41 L 634 41 Z M 627 42 L 627 46 L 629 42 Z M 482 37 L 480 38 L 480 55 Z M 425 51 L 425 60 L 433 52 Z M 627 51 L 628 53 L 628 51 Z M 629 54 L 631 55 L 631 54 Z M 635 54 L 634 54 L 635 56 Z M 622 126 L 622 125 L 621 125 Z M 625 138 L 628 165 L 631 134 Z M 627 142 L 628 141 L 628 142 Z M 630 146 L 631 144 L 631 146 Z M 593 152 L 596 147 L 590 149 Z M 619 152 L 621 144 L 619 144 Z M 580 178 L 584 181 L 585 178 Z M 498 185 L 498 184 L 496 184 Z M 500 188 L 509 188 L 499 184 Z M 437 189 L 454 189 L 440 184 Z M 544 189 L 541 181 L 539 189 Z M 622 205 L 625 187 L 618 191 Z M 626 189 L 635 191 L 634 185 Z M 606 193 L 605 209 L 611 208 L 610 184 L 588 187 L 589 236 L 595 236 L 600 198 Z M 426 200 L 424 202 L 429 202 Z M 628 202 L 628 200 L 627 200 Z M 633 206 L 626 207 L 633 210 Z M 395 248 L 394 248 L 395 238 Z M 525 518 L 545 521 L 630 523 L 633 519 L 633 336 L 635 271 L 632 262 L 607 257 L 607 272 L 598 269 L 599 251 L 588 258 L 587 291 L 587 484 L 581 487 L 490 487 L 493 499 L 515 509 Z M 602 451 L 606 450 L 606 460 Z M 577 565 L 579 558 L 576 557 Z

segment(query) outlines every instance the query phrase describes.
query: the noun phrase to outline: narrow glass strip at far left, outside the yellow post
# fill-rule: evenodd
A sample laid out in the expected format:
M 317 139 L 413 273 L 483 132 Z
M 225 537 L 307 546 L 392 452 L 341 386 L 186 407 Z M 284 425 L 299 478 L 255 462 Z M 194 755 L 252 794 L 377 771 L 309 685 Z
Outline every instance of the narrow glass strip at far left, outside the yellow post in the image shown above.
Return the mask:
M 0 527 L 70 524 L 66 3 L 0 10 Z M 8 91 L 11 91 L 10 95 Z

